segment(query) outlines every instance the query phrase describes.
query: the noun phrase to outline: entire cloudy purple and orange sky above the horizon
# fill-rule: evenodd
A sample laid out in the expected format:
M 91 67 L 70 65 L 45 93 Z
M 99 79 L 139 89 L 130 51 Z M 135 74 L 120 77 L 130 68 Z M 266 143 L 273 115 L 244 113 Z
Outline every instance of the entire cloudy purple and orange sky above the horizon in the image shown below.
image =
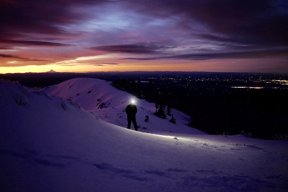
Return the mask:
M 0 73 L 288 72 L 286 0 L 2 0 Z

